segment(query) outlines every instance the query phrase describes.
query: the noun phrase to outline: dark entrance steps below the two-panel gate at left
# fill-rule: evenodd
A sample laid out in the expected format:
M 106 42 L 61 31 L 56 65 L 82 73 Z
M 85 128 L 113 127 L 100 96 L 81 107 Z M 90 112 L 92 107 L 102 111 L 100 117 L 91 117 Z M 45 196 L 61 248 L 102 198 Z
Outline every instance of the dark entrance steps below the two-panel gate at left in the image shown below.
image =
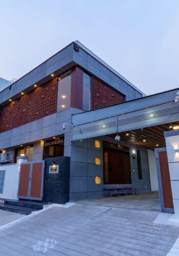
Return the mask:
M 0 200 L 0 210 L 8 210 L 12 212 L 17 212 L 19 214 L 29 215 L 32 211 L 37 211 L 43 209 L 43 205 L 48 203 L 26 201 L 26 200 L 10 200 L 1 199 Z

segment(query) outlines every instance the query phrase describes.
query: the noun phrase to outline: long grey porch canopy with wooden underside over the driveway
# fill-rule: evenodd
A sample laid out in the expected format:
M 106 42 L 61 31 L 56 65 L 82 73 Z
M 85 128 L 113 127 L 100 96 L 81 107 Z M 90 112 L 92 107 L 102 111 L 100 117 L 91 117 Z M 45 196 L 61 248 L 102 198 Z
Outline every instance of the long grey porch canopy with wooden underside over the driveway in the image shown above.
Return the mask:
M 75 114 L 72 141 L 119 133 L 123 141 L 151 149 L 164 147 L 164 132 L 179 125 L 179 101 L 174 102 L 177 92 L 179 88 Z

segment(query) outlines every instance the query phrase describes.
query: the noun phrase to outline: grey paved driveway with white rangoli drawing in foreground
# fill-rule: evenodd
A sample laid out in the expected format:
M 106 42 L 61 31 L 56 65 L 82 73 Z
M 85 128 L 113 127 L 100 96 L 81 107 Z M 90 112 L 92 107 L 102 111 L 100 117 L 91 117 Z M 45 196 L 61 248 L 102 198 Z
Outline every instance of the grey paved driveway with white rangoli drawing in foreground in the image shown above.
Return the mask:
M 2 255 L 166 255 L 179 229 L 160 213 L 75 204 L 52 207 L 0 231 Z

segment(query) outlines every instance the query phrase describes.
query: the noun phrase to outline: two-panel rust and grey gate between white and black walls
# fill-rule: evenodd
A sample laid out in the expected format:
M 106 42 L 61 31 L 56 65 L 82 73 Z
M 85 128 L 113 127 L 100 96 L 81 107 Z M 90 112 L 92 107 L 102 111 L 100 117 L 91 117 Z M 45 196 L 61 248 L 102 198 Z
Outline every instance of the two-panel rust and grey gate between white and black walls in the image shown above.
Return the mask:
M 43 179 L 44 161 L 21 163 L 17 197 L 42 201 Z

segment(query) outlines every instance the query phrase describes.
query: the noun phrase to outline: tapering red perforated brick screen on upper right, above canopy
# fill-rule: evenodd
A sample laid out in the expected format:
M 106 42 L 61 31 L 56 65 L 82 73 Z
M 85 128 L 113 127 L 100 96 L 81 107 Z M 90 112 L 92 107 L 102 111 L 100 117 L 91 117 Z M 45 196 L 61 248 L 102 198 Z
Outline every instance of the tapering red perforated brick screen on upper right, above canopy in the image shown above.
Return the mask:
M 125 101 L 125 96 L 107 86 L 96 77 L 91 77 L 92 110 L 103 108 Z

